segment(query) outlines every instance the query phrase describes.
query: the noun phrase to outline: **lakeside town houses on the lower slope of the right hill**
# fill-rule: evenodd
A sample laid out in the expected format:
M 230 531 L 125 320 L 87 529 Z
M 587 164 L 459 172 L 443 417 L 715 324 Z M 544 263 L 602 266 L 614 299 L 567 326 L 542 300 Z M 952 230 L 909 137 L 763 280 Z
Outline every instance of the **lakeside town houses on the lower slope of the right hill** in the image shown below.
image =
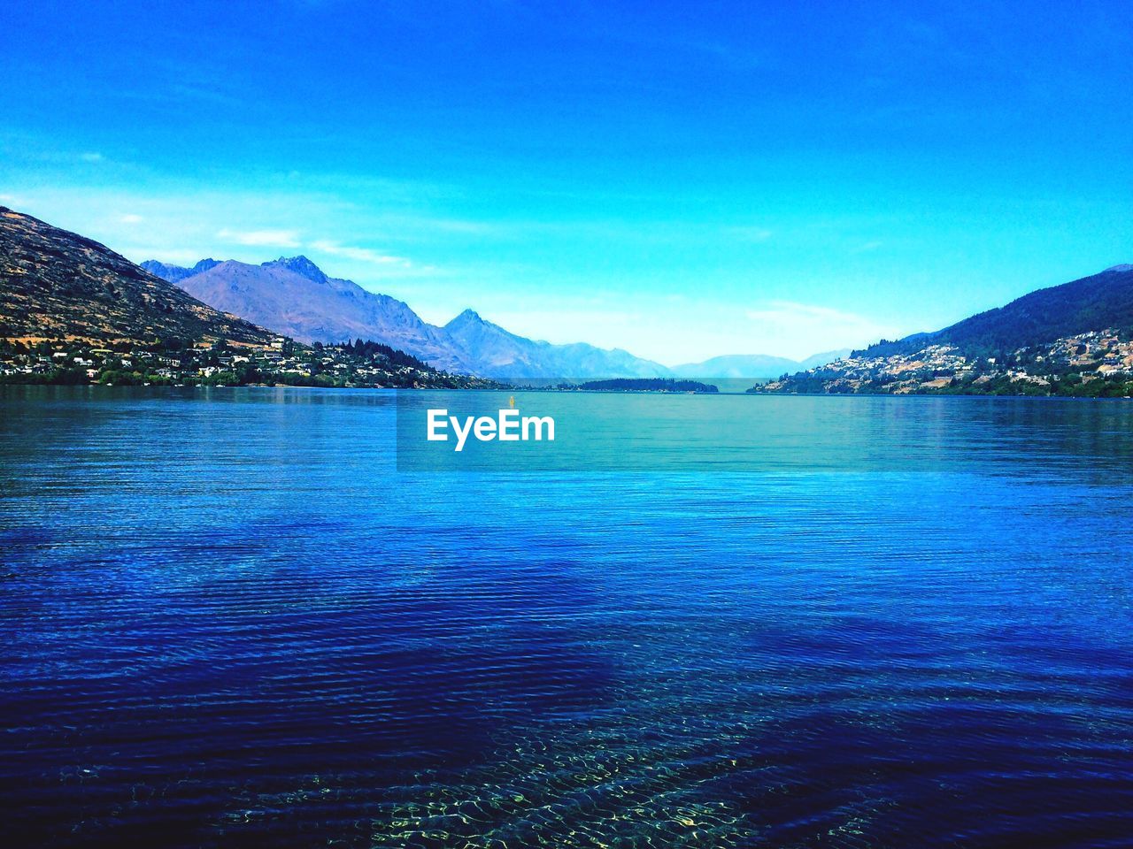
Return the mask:
M 855 351 L 749 392 L 1131 397 L 1133 336 L 1094 331 L 987 357 L 949 344 L 886 357 Z

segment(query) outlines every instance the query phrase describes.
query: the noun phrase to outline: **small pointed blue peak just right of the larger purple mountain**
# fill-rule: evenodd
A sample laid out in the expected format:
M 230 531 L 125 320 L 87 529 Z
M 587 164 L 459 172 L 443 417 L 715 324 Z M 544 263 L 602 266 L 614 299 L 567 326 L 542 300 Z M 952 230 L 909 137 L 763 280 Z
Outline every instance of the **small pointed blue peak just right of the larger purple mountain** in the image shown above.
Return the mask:
M 621 349 L 553 345 L 517 336 L 466 309 L 444 326 L 472 371 L 487 377 L 665 377 L 670 370 Z

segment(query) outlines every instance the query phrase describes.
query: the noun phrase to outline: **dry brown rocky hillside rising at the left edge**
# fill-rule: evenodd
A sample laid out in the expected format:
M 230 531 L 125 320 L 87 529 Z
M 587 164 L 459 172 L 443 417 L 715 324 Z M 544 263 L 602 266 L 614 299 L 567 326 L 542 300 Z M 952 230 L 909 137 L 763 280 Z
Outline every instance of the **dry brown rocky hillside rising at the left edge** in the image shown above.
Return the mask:
M 275 334 L 219 312 L 99 242 L 0 206 L 0 337 L 267 345 Z

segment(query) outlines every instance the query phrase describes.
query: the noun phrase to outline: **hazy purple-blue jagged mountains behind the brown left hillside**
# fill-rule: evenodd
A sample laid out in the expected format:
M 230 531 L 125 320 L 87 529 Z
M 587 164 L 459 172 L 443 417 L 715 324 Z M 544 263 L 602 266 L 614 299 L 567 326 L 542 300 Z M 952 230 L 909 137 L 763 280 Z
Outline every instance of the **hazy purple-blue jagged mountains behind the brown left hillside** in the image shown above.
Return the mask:
M 665 377 L 668 369 L 619 349 L 554 345 L 509 333 L 471 310 L 444 327 L 402 301 L 329 277 L 306 257 L 262 265 L 203 260 L 194 268 L 145 264 L 216 309 L 304 342 L 372 338 L 450 371 L 485 377 Z M 201 271 L 195 272 L 194 269 Z

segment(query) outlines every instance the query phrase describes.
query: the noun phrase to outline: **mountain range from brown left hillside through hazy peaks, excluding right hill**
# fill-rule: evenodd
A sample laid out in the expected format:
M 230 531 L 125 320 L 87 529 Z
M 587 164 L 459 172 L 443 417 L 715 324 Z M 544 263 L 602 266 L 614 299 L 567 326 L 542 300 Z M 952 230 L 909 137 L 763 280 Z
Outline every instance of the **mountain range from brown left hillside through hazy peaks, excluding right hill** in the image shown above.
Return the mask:
M 403 301 L 330 277 L 303 256 L 138 267 L 103 245 L 0 207 L 0 338 L 91 344 L 180 340 L 269 346 L 369 338 L 453 372 L 488 377 L 750 377 L 804 363 L 717 357 L 668 369 L 621 349 L 552 344 L 465 310 L 431 325 Z M 820 355 L 826 361 L 835 354 Z

